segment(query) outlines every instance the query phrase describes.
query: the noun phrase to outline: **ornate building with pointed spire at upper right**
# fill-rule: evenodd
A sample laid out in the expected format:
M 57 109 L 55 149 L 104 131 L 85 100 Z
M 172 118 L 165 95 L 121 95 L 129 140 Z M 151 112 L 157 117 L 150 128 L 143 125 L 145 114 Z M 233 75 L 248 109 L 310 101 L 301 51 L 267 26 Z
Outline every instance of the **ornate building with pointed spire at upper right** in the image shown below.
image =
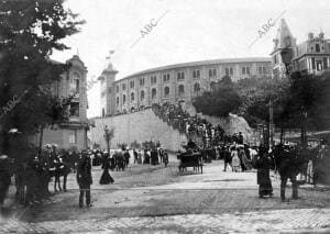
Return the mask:
M 326 40 L 322 32 L 318 36 L 308 33 L 308 40 L 297 45 L 282 19 L 273 42 L 271 56 L 274 76 L 284 77 L 297 70 L 319 75 L 330 67 L 330 40 Z

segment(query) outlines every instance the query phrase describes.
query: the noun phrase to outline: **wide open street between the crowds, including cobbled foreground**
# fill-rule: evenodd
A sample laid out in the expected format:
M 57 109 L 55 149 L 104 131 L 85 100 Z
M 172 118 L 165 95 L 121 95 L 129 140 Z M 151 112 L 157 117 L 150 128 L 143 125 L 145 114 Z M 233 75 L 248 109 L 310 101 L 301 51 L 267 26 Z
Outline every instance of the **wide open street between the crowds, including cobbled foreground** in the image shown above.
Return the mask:
M 222 171 L 223 161 L 206 164 L 204 174 L 188 168 L 130 165 L 111 171 L 113 185 L 100 186 L 92 170 L 92 207 L 78 207 L 75 174 L 68 191 L 2 220 L 1 233 L 295 233 L 330 232 L 330 191 L 304 186 L 299 200 L 279 199 L 279 178 L 272 175 L 274 197 L 258 199 L 255 172 Z M 53 182 L 50 183 L 52 190 Z

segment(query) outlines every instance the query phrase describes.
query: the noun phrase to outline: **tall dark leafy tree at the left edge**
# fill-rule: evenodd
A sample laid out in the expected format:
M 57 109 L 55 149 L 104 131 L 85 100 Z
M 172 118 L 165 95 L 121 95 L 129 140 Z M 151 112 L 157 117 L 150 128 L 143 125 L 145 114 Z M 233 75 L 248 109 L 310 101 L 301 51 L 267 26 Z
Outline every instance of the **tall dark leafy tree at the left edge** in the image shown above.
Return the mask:
M 62 40 L 79 32 L 84 21 L 77 16 L 63 0 L 0 0 L 0 108 L 21 97 L 0 119 L 0 152 L 9 152 L 10 129 L 19 129 L 28 144 L 31 135 L 65 120 L 70 98 L 56 97 L 53 88 L 69 64 L 50 56 L 68 48 Z

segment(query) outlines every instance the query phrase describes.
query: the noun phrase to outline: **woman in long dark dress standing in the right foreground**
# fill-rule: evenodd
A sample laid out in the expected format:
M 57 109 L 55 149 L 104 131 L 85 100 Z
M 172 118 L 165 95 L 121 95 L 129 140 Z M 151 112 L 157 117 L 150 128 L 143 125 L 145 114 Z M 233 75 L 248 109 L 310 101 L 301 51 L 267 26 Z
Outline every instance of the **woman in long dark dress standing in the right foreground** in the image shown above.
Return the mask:
M 272 180 L 270 177 L 272 160 L 268 157 L 267 149 L 261 148 L 258 153 L 258 158 L 255 163 L 257 168 L 256 179 L 258 185 L 258 197 L 273 196 Z

